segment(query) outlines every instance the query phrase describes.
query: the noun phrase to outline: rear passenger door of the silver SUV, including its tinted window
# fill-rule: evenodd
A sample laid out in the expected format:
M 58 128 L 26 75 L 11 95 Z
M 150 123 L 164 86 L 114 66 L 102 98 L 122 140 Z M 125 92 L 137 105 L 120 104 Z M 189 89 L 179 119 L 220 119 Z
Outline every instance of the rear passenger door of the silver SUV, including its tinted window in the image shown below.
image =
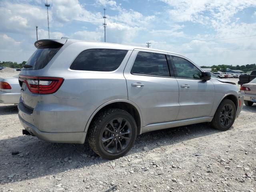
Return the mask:
M 180 108 L 178 82 L 169 70 L 165 53 L 134 50 L 124 77 L 128 99 L 140 108 L 143 126 L 176 120 Z

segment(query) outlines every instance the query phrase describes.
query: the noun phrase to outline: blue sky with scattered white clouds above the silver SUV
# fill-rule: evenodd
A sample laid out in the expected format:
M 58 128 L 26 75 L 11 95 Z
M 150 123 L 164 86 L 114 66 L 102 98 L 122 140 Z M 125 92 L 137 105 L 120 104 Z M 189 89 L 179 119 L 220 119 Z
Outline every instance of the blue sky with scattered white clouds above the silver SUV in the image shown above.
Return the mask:
M 46 0 L 0 0 L 0 61 L 22 62 L 48 38 Z M 256 63 L 256 0 L 48 0 L 50 38 L 146 46 L 199 66 Z

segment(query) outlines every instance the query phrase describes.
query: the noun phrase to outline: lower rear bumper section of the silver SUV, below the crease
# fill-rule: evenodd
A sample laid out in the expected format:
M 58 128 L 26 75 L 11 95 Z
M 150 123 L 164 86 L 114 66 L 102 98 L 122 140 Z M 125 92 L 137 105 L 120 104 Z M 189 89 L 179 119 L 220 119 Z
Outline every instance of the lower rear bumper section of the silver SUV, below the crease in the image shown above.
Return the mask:
M 34 125 L 26 122 L 20 114 L 18 114 L 21 124 L 32 135 L 37 138 L 56 143 L 78 143 L 84 144 L 86 132 L 64 132 L 64 133 L 52 133 L 42 132 L 38 130 Z

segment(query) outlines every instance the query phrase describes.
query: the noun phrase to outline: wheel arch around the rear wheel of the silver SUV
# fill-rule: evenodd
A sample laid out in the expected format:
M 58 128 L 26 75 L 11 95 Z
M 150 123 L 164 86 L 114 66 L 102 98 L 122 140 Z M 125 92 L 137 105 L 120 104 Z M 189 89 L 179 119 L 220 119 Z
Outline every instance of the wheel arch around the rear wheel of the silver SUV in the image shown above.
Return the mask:
M 84 129 L 84 132 L 88 131 L 89 126 L 92 123 L 95 116 L 102 110 L 105 110 L 108 108 L 119 108 L 122 110 L 126 110 L 128 113 L 130 113 L 136 122 L 137 130 L 138 130 L 137 133 L 142 134 L 142 115 L 140 112 L 140 108 L 134 102 L 131 102 L 129 100 L 124 100 L 124 99 L 112 100 L 99 106 L 90 116 L 86 124 L 86 127 Z

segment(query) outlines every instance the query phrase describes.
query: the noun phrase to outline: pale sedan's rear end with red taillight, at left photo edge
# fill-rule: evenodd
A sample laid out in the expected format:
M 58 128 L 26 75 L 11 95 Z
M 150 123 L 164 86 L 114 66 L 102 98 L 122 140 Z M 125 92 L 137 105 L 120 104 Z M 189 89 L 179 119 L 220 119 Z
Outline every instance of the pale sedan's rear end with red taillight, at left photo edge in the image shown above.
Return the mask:
M 18 75 L 0 77 L 0 103 L 18 104 L 20 101 L 20 84 Z

